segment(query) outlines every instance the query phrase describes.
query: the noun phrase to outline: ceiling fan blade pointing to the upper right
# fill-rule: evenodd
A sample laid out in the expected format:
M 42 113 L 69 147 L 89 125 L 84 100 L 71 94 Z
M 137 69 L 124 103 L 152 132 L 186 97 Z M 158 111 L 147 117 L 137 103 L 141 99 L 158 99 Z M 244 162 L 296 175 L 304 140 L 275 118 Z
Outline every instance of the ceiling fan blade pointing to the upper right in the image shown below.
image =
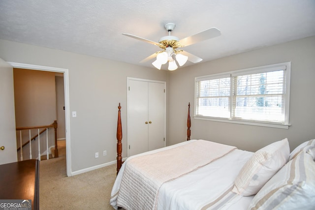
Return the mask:
M 181 45 L 185 46 L 189 46 L 192 44 L 195 44 L 197 42 L 201 42 L 207 39 L 211 39 L 217 36 L 221 35 L 221 31 L 217 28 L 211 28 L 208 30 L 204 30 L 200 33 L 196 33 L 192 36 L 186 37 L 184 39 L 179 40 L 179 42 L 181 43 Z

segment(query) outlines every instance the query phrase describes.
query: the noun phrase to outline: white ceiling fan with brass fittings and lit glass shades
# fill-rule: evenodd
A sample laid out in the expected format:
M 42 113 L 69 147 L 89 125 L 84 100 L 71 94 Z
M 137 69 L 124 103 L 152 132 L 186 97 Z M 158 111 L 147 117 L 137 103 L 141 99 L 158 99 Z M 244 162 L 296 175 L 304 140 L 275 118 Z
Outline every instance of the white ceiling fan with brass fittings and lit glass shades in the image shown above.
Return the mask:
M 184 50 L 179 50 L 177 48 L 186 47 L 197 42 L 201 42 L 221 35 L 220 30 L 218 30 L 217 28 L 211 28 L 180 40 L 178 37 L 171 35 L 172 30 L 174 30 L 175 28 L 174 23 L 167 23 L 164 27 L 168 31 L 168 35 L 161 37 L 158 42 L 151 41 L 149 39 L 145 39 L 129 33 L 123 34 L 131 38 L 154 44 L 161 48 L 161 51 L 152 54 L 151 56 L 145 58 L 144 60 L 141 60 L 140 62 L 146 62 L 157 57 L 157 60 L 155 60 L 152 64 L 156 68 L 161 69 L 162 64 L 165 64 L 168 61 L 168 70 L 170 71 L 176 70 L 178 68 L 176 61 L 180 66 L 182 66 L 187 62 L 187 60 L 193 63 L 197 63 L 202 60 L 197 56 L 194 56 Z

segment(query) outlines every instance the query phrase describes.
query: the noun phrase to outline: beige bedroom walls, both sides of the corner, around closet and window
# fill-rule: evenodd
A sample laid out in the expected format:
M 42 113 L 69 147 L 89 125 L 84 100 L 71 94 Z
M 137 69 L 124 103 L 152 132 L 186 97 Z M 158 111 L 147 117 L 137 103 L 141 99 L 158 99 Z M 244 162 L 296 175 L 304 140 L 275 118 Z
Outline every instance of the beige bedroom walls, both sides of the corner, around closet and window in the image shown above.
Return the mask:
M 211 50 L 211 49 L 209 49 Z M 315 37 L 266 47 L 173 72 L 158 71 L 32 45 L 0 40 L 0 58 L 69 69 L 71 171 L 116 159 L 117 106 L 122 104 L 123 156 L 126 157 L 126 77 L 167 82 L 167 145 L 186 140 L 187 104 L 193 115 L 194 77 L 254 66 L 291 61 L 289 129 L 192 120 L 191 138 L 259 148 L 287 137 L 290 147 L 315 138 Z M 307 103 L 302 103 L 306 101 Z M 96 151 L 107 155 L 95 159 Z

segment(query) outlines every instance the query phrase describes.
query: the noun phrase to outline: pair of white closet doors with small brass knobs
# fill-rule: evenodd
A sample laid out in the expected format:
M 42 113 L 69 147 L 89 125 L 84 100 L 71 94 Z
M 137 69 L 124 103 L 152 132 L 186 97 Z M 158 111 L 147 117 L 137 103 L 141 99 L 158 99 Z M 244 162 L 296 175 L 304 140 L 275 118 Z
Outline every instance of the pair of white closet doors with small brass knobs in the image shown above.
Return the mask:
M 128 78 L 127 154 L 165 147 L 165 82 Z

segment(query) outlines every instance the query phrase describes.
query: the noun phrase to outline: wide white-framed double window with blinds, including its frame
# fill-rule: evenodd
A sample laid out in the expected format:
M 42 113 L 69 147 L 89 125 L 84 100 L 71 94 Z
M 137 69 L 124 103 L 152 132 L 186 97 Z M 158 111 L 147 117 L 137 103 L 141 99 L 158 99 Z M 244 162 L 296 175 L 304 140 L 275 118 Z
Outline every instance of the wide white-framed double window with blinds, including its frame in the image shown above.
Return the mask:
M 195 78 L 195 119 L 288 128 L 291 63 Z

